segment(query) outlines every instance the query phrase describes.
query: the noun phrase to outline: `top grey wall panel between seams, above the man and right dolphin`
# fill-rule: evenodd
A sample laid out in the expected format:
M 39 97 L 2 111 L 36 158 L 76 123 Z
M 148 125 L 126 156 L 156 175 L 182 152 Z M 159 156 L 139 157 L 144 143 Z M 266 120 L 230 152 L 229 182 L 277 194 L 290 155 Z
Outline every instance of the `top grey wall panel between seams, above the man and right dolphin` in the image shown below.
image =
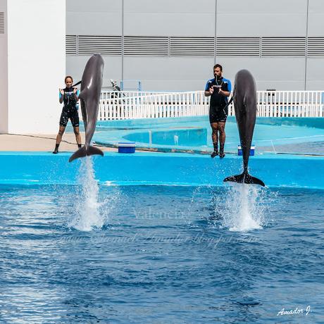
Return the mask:
M 304 36 L 306 0 L 218 0 L 218 36 Z

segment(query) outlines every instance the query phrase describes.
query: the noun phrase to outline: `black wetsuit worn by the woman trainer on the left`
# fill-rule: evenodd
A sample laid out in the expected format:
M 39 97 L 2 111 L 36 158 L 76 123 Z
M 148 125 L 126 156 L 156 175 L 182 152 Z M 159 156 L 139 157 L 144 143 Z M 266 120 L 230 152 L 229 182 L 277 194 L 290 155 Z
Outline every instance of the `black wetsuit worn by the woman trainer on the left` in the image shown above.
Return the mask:
M 77 101 L 73 94 L 73 88 L 65 88 L 63 91 L 64 106 L 61 113 L 60 126 L 66 127 L 66 125 L 68 125 L 68 120 L 70 119 L 73 127 L 79 127 L 79 112 L 77 111 Z

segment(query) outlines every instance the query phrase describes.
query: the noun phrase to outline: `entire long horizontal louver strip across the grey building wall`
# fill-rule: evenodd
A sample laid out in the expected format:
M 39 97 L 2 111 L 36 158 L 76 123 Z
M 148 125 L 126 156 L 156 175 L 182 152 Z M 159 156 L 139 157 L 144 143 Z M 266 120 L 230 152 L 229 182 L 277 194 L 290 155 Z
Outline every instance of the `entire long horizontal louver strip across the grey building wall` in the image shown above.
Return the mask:
M 0 13 L 0 33 L 4 33 L 4 13 Z M 125 56 L 252 56 L 304 57 L 305 37 L 149 37 L 125 36 Z M 66 35 L 67 55 L 122 55 L 121 36 Z M 324 37 L 309 37 L 309 57 L 324 57 Z

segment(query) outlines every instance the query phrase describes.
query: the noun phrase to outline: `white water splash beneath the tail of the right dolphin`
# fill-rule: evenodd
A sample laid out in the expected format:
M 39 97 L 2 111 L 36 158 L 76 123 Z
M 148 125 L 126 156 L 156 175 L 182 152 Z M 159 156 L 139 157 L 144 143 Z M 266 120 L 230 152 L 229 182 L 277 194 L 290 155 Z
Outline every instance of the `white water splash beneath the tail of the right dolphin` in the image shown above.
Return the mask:
M 254 185 L 233 184 L 223 204 L 218 204 L 221 227 L 247 232 L 263 228 L 266 222 L 266 189 Z

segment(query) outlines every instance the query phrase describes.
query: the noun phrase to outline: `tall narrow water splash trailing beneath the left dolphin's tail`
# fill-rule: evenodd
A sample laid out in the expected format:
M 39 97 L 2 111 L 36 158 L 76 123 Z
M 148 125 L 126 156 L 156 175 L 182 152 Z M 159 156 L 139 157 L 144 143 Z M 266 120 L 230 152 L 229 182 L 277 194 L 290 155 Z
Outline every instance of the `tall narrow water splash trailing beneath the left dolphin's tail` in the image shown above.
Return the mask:
M 80 187 L 77 188 L 75 197 L 75 211 L 69 227 L 84 232 L 102 228 L 105 217 L 100 213 L 99 185 L 94 178 L 94 168 L 90 156 L 81 159 L 79 182 Z

